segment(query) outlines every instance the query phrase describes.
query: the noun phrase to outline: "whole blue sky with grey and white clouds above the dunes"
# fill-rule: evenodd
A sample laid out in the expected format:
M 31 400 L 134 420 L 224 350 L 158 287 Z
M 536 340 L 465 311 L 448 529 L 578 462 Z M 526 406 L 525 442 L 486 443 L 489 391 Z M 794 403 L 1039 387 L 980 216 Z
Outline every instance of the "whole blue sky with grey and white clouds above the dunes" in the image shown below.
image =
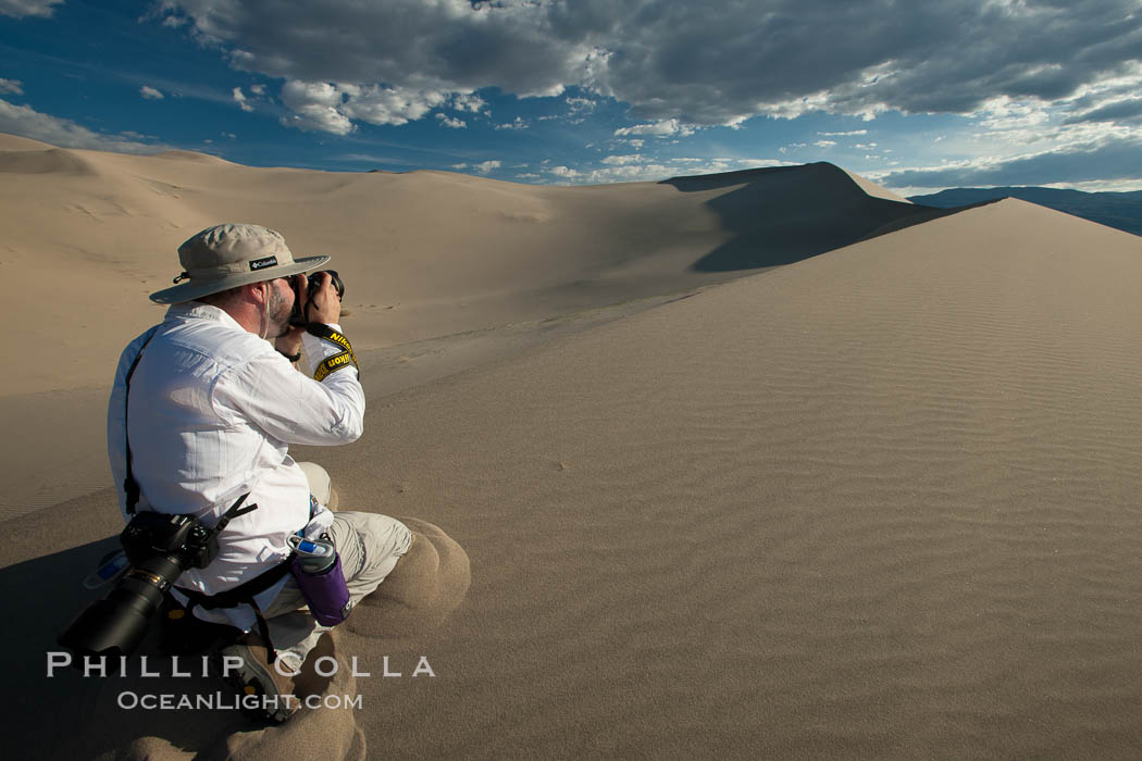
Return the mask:
M 532 184 L 1142 189 L 1139 0 L 0 0 L 0 131 Z

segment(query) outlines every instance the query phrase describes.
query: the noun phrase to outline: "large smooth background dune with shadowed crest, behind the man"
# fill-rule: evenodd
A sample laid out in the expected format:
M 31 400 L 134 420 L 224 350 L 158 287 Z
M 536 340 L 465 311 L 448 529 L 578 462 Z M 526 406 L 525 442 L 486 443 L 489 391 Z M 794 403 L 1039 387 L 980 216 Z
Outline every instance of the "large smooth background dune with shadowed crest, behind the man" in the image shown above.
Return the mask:
M 411 364 L 455 370 L 486 353 L 459 358 L 471 342 L 443 337 L 553 317 L 594 322 L 604 306 L 642 308 L 852 243 L 890 220 L 948 213 L 870 196 L 875 186 L 830 164 L 532 187 L 448 172 L 252 169 L 187 152 L 129 156 L 3 136 L 0 169 L 9 232 L 0 272 L 34 282 L 8 299 L 25 340 L 19 371 L 0 381 L 0 416 L 34 442 L 6 459 L 14 486 L 0 495 L 0 516 L 105 485 L 100 397 L 119 351 L 161 318 L 146 296 L 178 274 L 178 244 L 219 220 L 280 229 L 298 256 L 335 254 L 359 356 L 409 346 L 397 353 L 408 356 L 435 340 Z

